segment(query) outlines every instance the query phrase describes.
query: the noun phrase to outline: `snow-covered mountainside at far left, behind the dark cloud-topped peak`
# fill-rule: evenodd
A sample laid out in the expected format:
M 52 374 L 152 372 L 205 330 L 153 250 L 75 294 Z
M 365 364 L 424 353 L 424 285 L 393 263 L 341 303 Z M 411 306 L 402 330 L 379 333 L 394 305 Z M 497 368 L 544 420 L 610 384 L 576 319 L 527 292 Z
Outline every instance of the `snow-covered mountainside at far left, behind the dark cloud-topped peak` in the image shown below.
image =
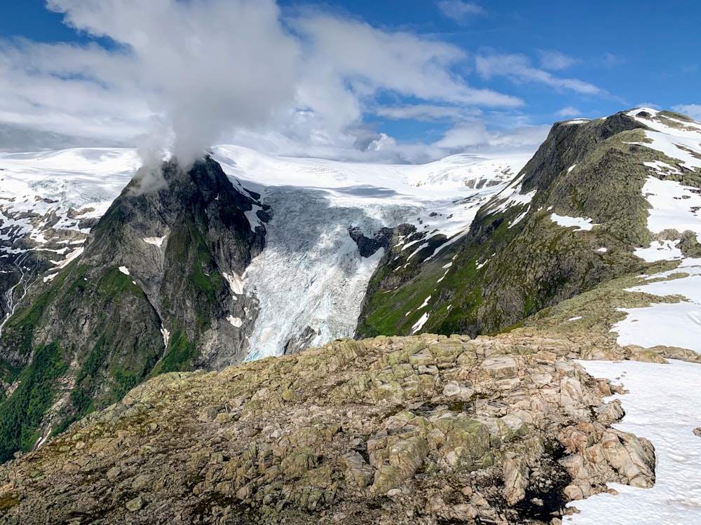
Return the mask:
M 90 228 L 139 165 L 136 151 L 125 149 L 0 153 L 2 321 L 37 275 L 51 279 L 82 253 Z

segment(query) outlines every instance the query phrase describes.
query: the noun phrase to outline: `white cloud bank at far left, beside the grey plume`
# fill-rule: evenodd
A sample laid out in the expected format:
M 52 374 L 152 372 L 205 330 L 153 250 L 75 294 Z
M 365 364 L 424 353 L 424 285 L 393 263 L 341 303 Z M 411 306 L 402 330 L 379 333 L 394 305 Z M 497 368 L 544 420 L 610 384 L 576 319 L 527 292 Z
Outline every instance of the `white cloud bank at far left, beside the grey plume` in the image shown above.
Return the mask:
M 82 137 L 132 135 L 151 111 L 126 80 L 127 65 L 97 46 L 3 43 L 0 121 Z

